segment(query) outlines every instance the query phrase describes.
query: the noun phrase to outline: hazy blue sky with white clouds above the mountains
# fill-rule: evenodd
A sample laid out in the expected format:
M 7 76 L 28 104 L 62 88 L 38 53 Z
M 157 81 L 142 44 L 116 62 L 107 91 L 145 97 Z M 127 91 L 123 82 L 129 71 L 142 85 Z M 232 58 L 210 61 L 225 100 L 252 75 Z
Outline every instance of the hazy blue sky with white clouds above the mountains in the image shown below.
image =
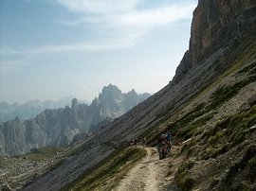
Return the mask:
M 0 101 L 156 93 L 189 48 L 195 0 L 0 0 Z

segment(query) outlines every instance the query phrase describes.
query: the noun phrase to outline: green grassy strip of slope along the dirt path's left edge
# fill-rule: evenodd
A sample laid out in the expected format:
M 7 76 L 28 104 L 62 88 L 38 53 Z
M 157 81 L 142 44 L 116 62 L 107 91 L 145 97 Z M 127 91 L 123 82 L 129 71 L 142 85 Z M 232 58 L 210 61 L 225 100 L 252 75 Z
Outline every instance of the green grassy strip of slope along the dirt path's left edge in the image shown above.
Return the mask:
M 64 190 L 112 190 L 146 154 L 142 148 L 119 148 Z

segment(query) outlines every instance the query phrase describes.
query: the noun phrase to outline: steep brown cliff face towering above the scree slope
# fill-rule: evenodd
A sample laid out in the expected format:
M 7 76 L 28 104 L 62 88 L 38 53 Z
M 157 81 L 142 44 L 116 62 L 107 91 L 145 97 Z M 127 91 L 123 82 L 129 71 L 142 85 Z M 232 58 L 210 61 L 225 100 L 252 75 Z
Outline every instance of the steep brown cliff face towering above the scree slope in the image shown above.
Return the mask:
M 255 23 L 254 0 L 199 0 L 193 12 L 190 48 L 176 69 L 174 82 L 234 37 L 243 41 Z

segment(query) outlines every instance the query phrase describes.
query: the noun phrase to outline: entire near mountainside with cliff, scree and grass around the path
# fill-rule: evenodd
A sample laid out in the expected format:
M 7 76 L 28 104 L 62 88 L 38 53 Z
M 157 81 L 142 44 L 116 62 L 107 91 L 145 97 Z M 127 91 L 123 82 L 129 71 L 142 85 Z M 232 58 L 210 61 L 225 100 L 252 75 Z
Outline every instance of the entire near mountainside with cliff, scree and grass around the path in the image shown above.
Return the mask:
M 133 172 L 142 170 L 137 166 L 145 167 L 139 164 L 145 153 L 124 145 L 137 136 L 155 146 L 156 138 L 166 130 L 173 134 L 172 155 L 154 163 L 154 154 L 148 153 L 142 163 L 155 169 L 163 165 L 168 171 L 165 178 L 156 180 L 156 186 L 148 186 L 156 190 L 255 190 L 255 9 L 256 2 L 251 0 L 199 0 L 190 49 L 173 81 L 81 142 L 62 163 L 23 190 L 128 189 L 127 171 L 134 176 L 129 180 L 138 181 L 135 189 L 143 190 L 147 181 Z M 238 18 L 244 19 L 243 25 Z M 155 175 L 144 176 L 151 180 Z

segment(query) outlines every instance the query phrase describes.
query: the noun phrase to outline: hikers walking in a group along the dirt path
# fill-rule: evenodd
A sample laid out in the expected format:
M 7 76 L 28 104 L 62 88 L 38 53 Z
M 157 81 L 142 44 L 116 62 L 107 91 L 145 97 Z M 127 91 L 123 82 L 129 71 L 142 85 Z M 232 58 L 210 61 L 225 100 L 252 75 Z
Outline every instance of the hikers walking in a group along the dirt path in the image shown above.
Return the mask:
M 143 148 L 146 148 L 146 138 L 144 137 L 142 140 Z M 138 140 L 137 137 L 132 138 L 129 142 L 129 146 L 137 147 Z M 166 131 L 166 133 L 162 133 L 160 137 L 158 137 L 155 141 L 156 148 L 159 154 L 159 160 L 164 159 L 170 156 L 171 148 L 172 148 L 172 136 L 170 131 Z

